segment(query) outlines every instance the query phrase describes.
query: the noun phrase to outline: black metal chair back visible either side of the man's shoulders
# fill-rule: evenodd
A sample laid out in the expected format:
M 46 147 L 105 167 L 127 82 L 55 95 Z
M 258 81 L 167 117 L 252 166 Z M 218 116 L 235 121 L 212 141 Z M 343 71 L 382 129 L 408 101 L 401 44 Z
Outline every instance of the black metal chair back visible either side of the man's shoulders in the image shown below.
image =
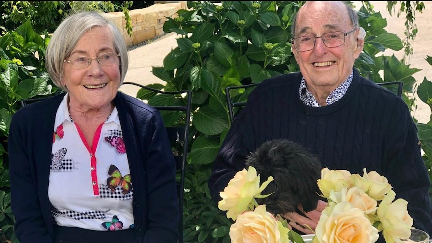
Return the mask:
M 245 106 L 250 92 L 258 84 L 259 83 L 253 83 L 253 84 L 231 86 L 225 88 L 225 96 L 227 97 L 228 113 L 230 116 L 231 123 L 234 121 L 234 117 L 237 115 L 237 113 L 239 113 L 241 108 Z M 384 83 L 376 83 L 376 84 L 380 86 L 384 86 L 385 88 L 393 91 L 399 97 L 402 97 L 403 82 L 393 81 L 393 82 L 384 82 Z

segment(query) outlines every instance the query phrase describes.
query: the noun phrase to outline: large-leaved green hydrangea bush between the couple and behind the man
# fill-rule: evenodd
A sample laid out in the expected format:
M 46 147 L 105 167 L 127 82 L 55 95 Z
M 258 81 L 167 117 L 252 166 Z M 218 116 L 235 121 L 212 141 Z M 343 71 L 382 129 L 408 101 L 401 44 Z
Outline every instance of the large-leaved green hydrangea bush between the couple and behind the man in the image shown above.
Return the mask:
M 207 188 L 211 163 L 231 125 L 225 87 L 258 83 L 299 70 L 291 52 L 290 27 L 303 3 L 188 1 L 189 10 L 178 10 L 176 18 L 167 17 L 163 30 L 177 33 L 178 46 L 164 58 L 163 67 L 153 67 L 153 74 L 166 82 L 165 90 L 193 90 L 185 242 L 229 242 L 230 222 L 211 202 Z M 384 29 L 387 22 L 373 6 L 366 2 L 358 15 L 367 35 L 355 67 L 375 82 L 403 81 L 403 99 L 412 107 L 412 75 L 419 69 L 383 55 L 386 49 L 397 51 L 404 46 L 399 37 Z M 246 100 L 249 92 L 243 90 L 232 99 Z

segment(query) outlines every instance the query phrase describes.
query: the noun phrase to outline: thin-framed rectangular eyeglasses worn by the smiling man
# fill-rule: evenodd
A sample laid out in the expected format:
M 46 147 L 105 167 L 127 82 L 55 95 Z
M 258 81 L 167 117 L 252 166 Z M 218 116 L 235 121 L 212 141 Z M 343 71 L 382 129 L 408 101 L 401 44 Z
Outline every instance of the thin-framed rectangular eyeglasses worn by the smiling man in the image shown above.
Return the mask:
M 339 47 L 345 43 L 345 36 L 353 33 L 357 28 L 349 32 L 334 31 L 322 34 L 322 36 L 301 36 L 291 39 L 291 43 L 299 52 L 310 51 L 315 48 L 317 38 L 321 38 L 326 47 Z

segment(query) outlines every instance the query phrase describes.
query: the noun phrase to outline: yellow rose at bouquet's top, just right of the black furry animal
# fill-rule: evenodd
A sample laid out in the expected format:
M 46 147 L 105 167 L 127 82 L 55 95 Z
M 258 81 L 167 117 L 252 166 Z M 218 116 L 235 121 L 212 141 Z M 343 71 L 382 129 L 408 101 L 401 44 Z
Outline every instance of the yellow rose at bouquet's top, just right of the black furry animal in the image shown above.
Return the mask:
M 318 180 L 318 187 L 324 197 L 329 197 L 330 191 L 340 191 L 343 187 L 350 187 L 348 170 L 321 170 L 321 179 Z

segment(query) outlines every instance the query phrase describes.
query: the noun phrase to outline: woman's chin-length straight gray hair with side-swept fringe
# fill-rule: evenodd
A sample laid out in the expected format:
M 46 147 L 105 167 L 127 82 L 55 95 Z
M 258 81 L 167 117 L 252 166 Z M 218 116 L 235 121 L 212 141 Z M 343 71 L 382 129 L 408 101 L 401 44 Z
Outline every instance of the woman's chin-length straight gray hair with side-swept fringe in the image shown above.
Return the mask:
M 68 16 L 54 31 L 45 55 L 45 67 L 56 86 L 67 91 L 62 84 L 64 60 L 68 58 L 80 38 L 93 27 L 108 27 L 113 39 L 114 51 L 120 54 L 120 85 L 126 76 L 129 60 L 122 33 L 115 24 L 96 12 L 80 12 Z

